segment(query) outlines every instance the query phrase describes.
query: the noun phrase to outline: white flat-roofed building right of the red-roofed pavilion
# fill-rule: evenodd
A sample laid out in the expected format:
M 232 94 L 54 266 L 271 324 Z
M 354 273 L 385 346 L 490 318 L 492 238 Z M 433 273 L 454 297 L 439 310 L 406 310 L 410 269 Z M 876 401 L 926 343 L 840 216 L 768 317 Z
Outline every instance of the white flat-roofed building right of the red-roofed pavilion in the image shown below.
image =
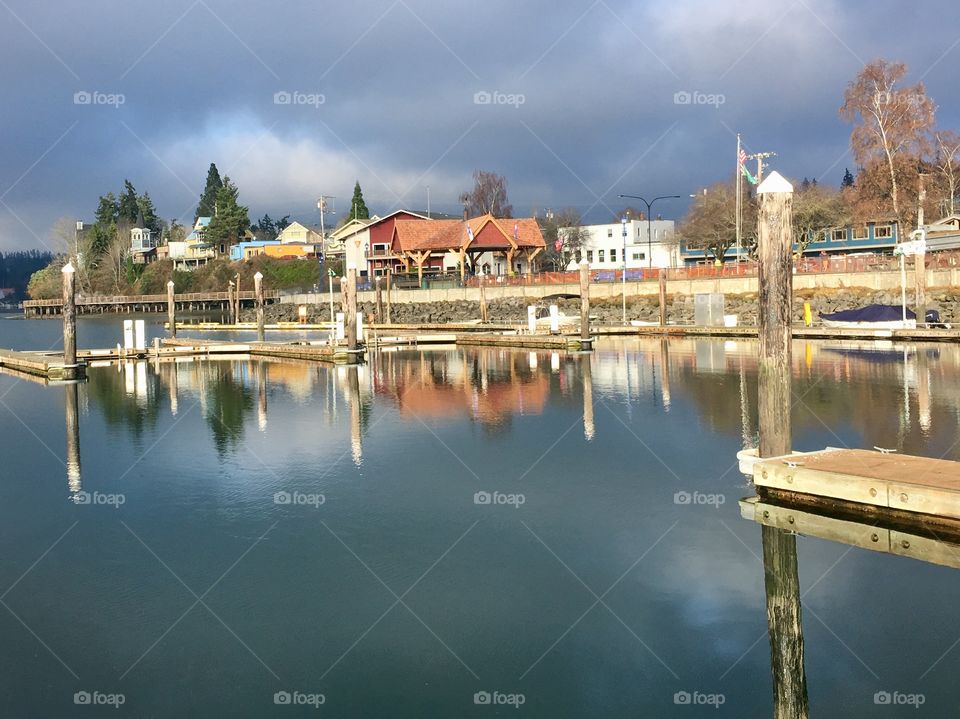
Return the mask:
M 560 231 L 568 232 L 564 227 Z M 588 238 L 581 248 L 581 257 L 598 270 L 623 269 L 624 243 L 626 243 L 627 269 L 646 267 L 679 267 L 680 246 L 676 241 L 673 220 L 627 220 L 625 224 L 614 222 L 608 225 L 585 225 Z M 624 238 L 623 231 L 627 236 Z M 571 256 L 568 270 L 577 269 L 577 258 Z

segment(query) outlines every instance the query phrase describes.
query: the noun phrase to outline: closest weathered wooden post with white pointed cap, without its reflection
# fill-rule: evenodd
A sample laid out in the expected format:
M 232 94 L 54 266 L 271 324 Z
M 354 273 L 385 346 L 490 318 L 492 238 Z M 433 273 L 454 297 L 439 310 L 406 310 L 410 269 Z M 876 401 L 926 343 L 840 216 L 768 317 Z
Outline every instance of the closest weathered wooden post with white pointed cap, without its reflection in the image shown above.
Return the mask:
M 793 186 L 772 172 L 760 196 L 760 456 L 790 453 Z

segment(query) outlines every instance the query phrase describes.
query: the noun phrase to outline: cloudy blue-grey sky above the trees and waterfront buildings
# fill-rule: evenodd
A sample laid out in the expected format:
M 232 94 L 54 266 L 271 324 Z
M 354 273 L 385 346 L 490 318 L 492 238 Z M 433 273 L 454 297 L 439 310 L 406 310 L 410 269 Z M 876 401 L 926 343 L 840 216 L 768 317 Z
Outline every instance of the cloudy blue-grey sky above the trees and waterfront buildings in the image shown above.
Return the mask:
M 0 251 L 50 243 L 129 178 L 192 222 L 206 169 L 252 219 L 458 212 L 474 169 L 516 214 L 684 198 L 748 152 L 839 183 L 865 62 L 906 62 L 960 127 L 954 0 L 0 0 Z M 657 212 L 680 216 L 684 201 Z

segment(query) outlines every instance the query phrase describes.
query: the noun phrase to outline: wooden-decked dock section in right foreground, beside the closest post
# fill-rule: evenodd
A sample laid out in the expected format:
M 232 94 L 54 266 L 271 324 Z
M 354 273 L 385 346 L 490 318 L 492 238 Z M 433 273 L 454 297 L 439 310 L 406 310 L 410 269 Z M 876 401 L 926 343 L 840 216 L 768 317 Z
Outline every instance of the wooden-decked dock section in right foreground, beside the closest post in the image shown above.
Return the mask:
M 752 470 L 761 498 L 803 495 L 821 506 L 960 520 L 960 463 L 950 460 L 830 448 L 758 459 Z

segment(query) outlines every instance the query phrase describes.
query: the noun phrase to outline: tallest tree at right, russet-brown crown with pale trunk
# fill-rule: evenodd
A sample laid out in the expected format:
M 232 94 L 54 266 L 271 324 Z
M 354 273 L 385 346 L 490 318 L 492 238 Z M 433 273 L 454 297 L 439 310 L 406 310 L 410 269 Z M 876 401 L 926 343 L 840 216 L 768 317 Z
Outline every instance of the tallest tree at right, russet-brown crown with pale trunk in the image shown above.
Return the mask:
M 874 60 L 847 86 L 840 107 L 840 117 L 853 123 L 850 146 L 856 161 L 862 167 L 885 164 L 893 213 L 900 220 L 906 217 L 901 213 L 898 160 L 924 154 L 935 110 L 922 82 L 897 87 L 906 72 L 903 63 Z

